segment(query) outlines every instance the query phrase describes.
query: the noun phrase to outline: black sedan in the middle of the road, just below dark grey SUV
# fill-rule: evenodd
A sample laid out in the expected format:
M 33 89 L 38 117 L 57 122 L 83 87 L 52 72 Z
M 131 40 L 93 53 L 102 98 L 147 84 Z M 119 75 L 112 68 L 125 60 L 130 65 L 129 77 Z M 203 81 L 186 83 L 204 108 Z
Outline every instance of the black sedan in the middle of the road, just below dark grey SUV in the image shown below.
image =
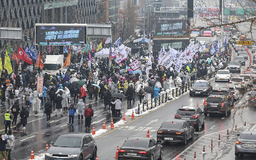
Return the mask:
M 157 141 L 181 142 L 194 138 L 195 129 L 186 120 L 166 120 L 157 131 Z

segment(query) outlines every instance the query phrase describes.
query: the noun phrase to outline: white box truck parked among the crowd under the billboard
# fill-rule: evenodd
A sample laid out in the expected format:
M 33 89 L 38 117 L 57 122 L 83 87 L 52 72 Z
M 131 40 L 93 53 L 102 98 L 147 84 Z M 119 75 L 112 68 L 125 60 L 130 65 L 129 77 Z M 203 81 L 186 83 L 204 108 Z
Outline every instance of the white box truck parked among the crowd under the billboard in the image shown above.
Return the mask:
M 62 68 L 64 64 L 64 55 L 46 55 L 43 74 L 56 75 L 57 73 L 65 73 L 67 69 Z

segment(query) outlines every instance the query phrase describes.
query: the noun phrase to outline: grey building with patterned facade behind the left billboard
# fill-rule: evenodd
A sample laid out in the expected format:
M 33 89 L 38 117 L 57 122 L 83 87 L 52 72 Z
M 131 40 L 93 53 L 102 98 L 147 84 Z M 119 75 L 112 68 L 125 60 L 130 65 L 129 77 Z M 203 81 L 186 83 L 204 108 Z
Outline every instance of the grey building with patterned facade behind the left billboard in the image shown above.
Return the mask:
M 97 0 L 1 0 L 0 27 L 22 28 L 22 42 L 27 45 L 35 38 L 35 23 L 95 23 Z M 1 40 L 0 49 L 6 41 Z M 13 46 L 14 47 L 14 46 Z

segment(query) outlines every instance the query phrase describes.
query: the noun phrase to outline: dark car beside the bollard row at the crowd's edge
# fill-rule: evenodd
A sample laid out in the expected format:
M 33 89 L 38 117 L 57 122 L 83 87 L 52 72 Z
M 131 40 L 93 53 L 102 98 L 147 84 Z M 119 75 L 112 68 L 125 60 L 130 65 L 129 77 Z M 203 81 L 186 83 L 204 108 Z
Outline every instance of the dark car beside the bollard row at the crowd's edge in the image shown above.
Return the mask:
M 206 95 L 209 96 L 212 92 L 212 85 L 208 81 L 197 80 L 189 90 L 189 95 Z

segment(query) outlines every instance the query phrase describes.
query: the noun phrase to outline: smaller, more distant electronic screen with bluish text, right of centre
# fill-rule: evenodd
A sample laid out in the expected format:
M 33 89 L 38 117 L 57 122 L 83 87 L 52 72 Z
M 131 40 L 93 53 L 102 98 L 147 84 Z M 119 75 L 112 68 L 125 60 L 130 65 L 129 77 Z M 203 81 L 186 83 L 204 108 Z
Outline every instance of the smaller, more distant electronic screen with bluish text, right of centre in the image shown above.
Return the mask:
M 156 35 L 185 35 L 186 20 L 156 20 Z

